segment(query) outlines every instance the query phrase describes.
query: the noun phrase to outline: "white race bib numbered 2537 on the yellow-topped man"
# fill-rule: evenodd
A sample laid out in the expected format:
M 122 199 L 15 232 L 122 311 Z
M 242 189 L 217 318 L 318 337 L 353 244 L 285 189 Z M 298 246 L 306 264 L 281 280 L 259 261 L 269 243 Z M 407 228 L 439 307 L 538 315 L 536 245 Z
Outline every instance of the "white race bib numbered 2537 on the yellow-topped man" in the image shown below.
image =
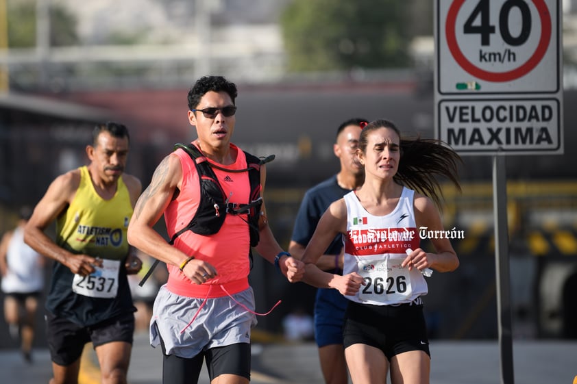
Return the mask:
M 82 296 L 97 298 L 116 297 L 120 260 L 102 260 L 101 267 L 88 276 L 74 275 L 72 290 Z

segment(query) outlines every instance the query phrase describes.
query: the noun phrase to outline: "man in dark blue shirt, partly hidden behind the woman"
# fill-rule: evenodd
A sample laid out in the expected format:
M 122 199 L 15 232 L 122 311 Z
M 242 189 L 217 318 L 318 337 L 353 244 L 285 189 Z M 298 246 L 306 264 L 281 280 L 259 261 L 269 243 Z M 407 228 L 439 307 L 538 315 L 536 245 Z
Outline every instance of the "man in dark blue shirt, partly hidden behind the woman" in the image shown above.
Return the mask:
M 304 195 L 297 213 L 289 252 L 300 259 L 306 244 L 312 238 L 321 216 L 329 205 L 341 199 L 351 190 L 363 184 L 365 174 L 358 162 L 356 150 L 361 126 L 366 125 L 361 118 L 343 122 L 336 131 L 334 155 L 341 162 L 341 170 L 336 175 L 310 188 Z M 363 124 L 364 123 L 364 124 Z M 343 273 L 343 240 L 341 235 L 334 238 L 317 266 L 322 270 Z M 319 289 L 315 300 L 315 340 L 319 347 L 321 370 L 327 384 L 347 384 L 348 374 L 343 348 L 343 317 L 348 300 L 338 290 Z

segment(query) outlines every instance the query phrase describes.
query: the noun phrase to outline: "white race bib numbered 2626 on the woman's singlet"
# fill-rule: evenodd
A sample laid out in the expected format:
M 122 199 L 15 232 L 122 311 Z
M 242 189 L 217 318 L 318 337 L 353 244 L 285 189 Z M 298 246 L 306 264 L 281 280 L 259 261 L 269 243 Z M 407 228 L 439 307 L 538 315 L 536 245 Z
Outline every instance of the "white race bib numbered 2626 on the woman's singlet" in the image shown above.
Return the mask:
M 357 261 L 358 274 L 365 279 L 358 298 L 363 301 L 394 304 L 413 294 L 409 271 L 401 268 L 402 259 Z

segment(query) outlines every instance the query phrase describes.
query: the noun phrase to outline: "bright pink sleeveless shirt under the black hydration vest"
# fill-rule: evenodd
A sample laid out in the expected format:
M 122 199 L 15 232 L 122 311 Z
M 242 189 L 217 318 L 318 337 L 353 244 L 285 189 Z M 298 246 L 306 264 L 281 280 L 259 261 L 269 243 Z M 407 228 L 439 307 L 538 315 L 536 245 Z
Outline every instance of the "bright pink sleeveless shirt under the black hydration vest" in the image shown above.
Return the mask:
M 230 151 L 236 151 L 236 162 L 222 166 L 232 170 L 247 168 L 245 153 L 234 144 Z M 199 177 L 193 160 L 182 149 L 175 154 L 180 158 L 182 166 L 182 186 L 180 194 L 164 211 L 169 238 L 191 221 L 200 199 Z M 208 160 L 209 162 L 210 159 Z M 213 162 L 212 162 L 213 163 Z M 214 164 L 214 163 L 213 163 Z M 230 203 L 247 204 L 249 202 L 250 185 L 248 172 L 227 172 L 212 168 L 219 179 Z M 202 285 L 192 283 L 177 266 L 168 266 L 169 281 L 167 287 L 172 292 L 182 296 L 198 297 L 225 296 L 219 289 L 220 285 L 227 287 L 230 294 L 240 292 L 248 287 L 250 238 L 247 215 L 227 214 L 220 231 L 214 235 L 199 235 L 193 231 L 185 231 L 174 242 L 174 246 L 186 255 L 193 256 L 210 263 L 217 270 L 217 276 Z M 214 288 L 214 289 L 213 289 Z M 230 292 L 230 291 L 236 292 Z M 206 294 L 205 294 L 206 292 Z M 219 292 L 219 293 L 217 293 Z

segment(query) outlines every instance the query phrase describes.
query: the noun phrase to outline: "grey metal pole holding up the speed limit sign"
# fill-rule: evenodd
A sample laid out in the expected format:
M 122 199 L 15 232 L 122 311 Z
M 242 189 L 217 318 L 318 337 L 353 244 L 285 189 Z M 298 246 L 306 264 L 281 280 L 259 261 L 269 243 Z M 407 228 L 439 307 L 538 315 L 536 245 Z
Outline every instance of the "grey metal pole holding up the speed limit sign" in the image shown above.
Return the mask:
M 493 214 L 495 216 L 495 274 L 501 384 L 513 384 L 513 329 L 509 290 L 507 230 L 507 180 L 505 157 L 493 156 Z

